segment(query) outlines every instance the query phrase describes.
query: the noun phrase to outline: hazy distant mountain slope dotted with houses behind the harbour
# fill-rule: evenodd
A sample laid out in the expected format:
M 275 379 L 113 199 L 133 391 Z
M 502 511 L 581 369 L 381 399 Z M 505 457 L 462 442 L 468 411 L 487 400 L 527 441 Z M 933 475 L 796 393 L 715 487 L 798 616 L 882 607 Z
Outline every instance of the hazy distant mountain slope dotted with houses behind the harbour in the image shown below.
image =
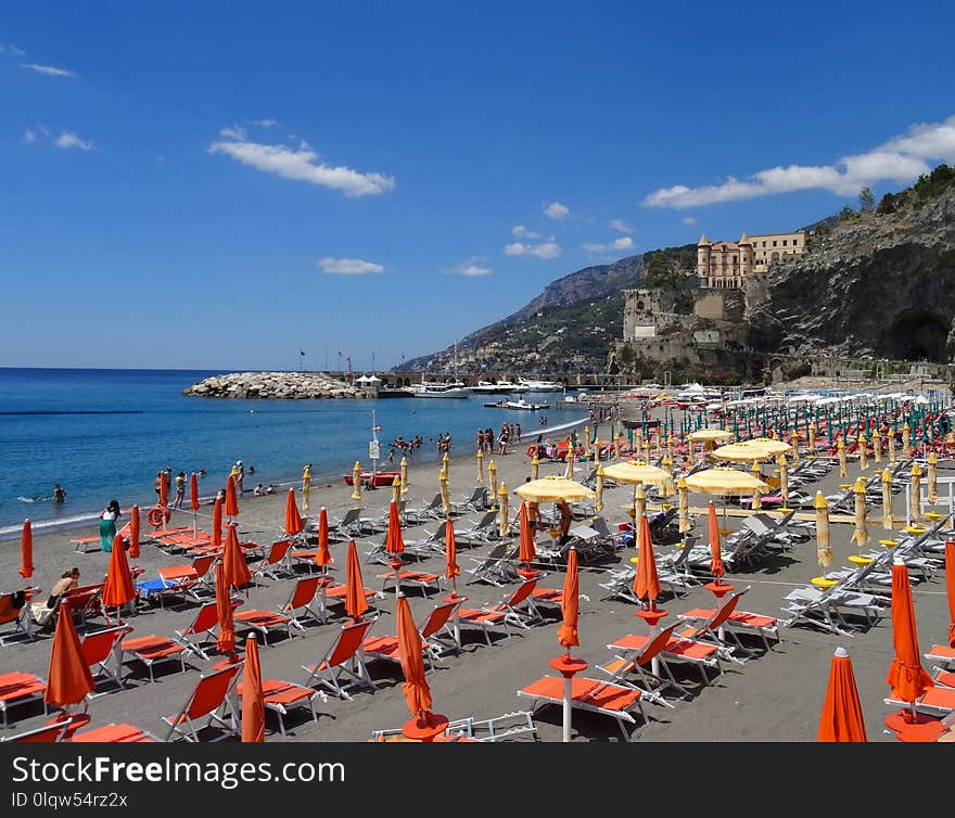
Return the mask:
M 623 332 L 624 287 L 636 286 L 644 255 L 594 265 L 548 284 L 527 305 L 458 342 L 459 374 L 556 375 L 602 371 L 610 343 Z M 406 361 L 400 368 L 450 374 L 455 348 Z

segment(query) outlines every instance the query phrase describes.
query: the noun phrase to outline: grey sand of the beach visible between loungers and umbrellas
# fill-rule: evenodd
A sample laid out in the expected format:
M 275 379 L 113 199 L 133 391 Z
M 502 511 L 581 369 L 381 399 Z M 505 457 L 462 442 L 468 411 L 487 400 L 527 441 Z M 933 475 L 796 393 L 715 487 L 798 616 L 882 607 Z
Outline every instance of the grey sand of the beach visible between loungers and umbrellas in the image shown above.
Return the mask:
M 601 427 L 601 436 L 609 431 Z M 524 445 L 512 448 L 506 456 L 487 456 L 484 459 L 485 482 L 486 466 L 494 460 L 497 466 L 498 482 L 505 483 L 510 490 L 517 488 L 530 474 L 530 458 Z M 581 477 L 589 472 L 590 463 L 577 463 L 575 476 Z M 955 468 L 951 461 L 940 462 L 940 474 L 945 469 Z M 870 466 L 871 469 L 871 466 Z M 563 473 L 564 465 L 556 462 L 542 462 L 540 476 Z M 437 490 L 438 464 L 429 463 L 412 465 L 409 469 L 408 506 L 419 507 L 428 503 Z M 453 499 L 460 499 L 471 494 L 476 484 L 476 465 L 473 453 L 455 455 L 449 464 L 449 487 Z M 816 488 L 824 494 L 839 490 L 840 483 L 853 481 L 860 474 L 857 462 L 850 462 L 849 478 L 840 478 L 838 469 L 833 469 L 817 485 L 807 486 L 803 490 L 814 491 Z M 871 474 L 871 471 L 867 472 Z M 352 488 L 343 482 L 313 487 L 309 520 L 315 520 L 319 507 L 324 506 L 329 512 L 341 516 L 354 506 L 351 499 Z M 391 489 L 366 491 L 361 506 L 364 515 L 377 516 L 383 513 Z M 603 515 L 611 527 L 627 520 L 625 503 L 632 497 L 632 487 L 619 486 L 608 489 L 604 495 L 606 508 Z M 300 508 L 302 497 L 297 496 Z M 904 516 L 904 499 L 896 495 L 896 520 Z M 705 498 L 690 496 L 690 504 L 702 507 Z M 240 500 L 238 517 L 240 539 L 253 540 L 263 545 L 279 539 L 285 495 L 252 497 L 246 490 Z M 511 495 L 511 513 L 518 504 L 518 498 Z M 145 510 L 143 510 L 145 511 Z M 458 527 L 466 520 L 476 519 L 471 513 L 457 517 Z M 737 527 L 741 517 L 729 517 L 730 526 Z M 120 521 L 122 522 L 122 521 Z M 171 524 L 191 525 L 190 511 L 175 511 Z M 200 511 L 200 527 L 208 528 L 211 508 L 203 507 Z M 869 511 L 869 544 L 863 550 L 879 549 L 878 540 L 888 536 L 881 528 L 880 510 Z M 423 536 L 424 531 L 433 532 L 438 521 L 422 525 L 408 526 L 404 536 L 416 539 Z M 696 520 L 695 532 L 705 541 L 706 521 L 700 516 Z M 858 546 L 850 541 L 853 526 L 833 523 L 831 526 L 832 566 L 831 570 L 851 565 L 848 558 L 860 551 Z M 34 561 L 36 572 L 33 584 L 43 589 L 43 597 L 60 574 L 72 565 L 79 566 L 82 584 L 102 579 L 106 573 L 109 554 L 100 551 L 75 553 L 71 538 L 93 536 L 96 529 L 59 532 L 38 536 L 34 544 Z M 543 535 L 538 535 L 540 539 Z M 370 563 L 366 552 L 374 544 L 384 539 L 383 534 L 358 540 L 357 546 L 362 559 L 365 584 L 369 588 L 380 589 L 382 579 L 389 568 L 385 565 Z M 311 537 L 311 542 L 315 538 Z M 334 559 L 333 570 L 338 581 L 344 581 L 346 542 L 334 542 L 331 552 Z M 462 575 L 458 590 L 469 598 L 469 606 L 499 602 L 510 588 L 497 588 L 486 584 L 467 584 L 468 570 L 474 566 L 474 560 L 487 553 L 488 546 L 459 547 L 458 563 Z M 658 553 L 672 550 L 661 546 Z M 634 549 L 619 550 L 613 561 L 599 566 L 583 566 L 581 571 L 581 592 L 585 599 L 581 601 L 580 638 L 581 646 L 574 651 L 583 657 L 589 668 L 585 675 L 596 679 L 607 678 L 597 665 L 606 664 L 612 659 L 607 646 L 625 634 L 642 634 L 647 625 L 634 616 L 635 606 L 619 600 L 603 600 L 606 591 L 599 584 L 606 581 L 611 570 L 620 570 L 634 555 Z M 144 570 L 142 578 L 156 576 L 156 568 L 188 562 L 187 558 L 168 554 L 158 547 L 145 541 L 142 553 L 132 563 Z M 3 544 L 0 552 L 0 575 L 4 577 L 4 588 L 20 587 L 17 575 L 20 566 L 18 542 Z M 254 563 L 252 564 L 254 568 Z M 416 563 L 413 567 L 443 574 L 444 558 L 435 554 L 428 561 Z M 742 598 L 740 608 L 782 617 L 782 598 L 792 588 L 802 587 L 808 580 L 824 573 L 816 560 L 815 538 L 797 545 L 790 552 L 772 558 L 742 573 L 728 573 L 725 579 L 737 588 L 749 586 L 750 590 Z M 241 592 L 243 604 L 240 610 L 263 608 L 275 610 L 289 597 L 294 584 L 293 578 L 265 579 L 250 589 L 247 597 Z M 563 573 L 547 570 L 540 585 L 549 588 L 561 588 Z M 449 588 L 449 586 L 446 586 Z M 434 601 L 445 596 L 422 596 L 420 590 L 408 589 L 408 599 L 417 622 L 421 622 Z M 919 647 L 925 652 L 931 644 L 941 642 L 947 634 L 947 609 L 945 602 L 944 572 L 934 579 L 918 584 L 913 589 Z M 683 596 L 673 598 L 664 585 L 661 605 L 668 612 L 663 624 L 675 621 L 676 614 L 692 608 L 710 608 L 713 595 L 699 586 Z M 371 635 L 395 632 L 394 592 L 390 591 L 383 599 L 377 600 L 382 612 L 381 618 L 374 624 Z M 135 616 L 127 616 L 126 622 L 133 628 L 132 636 L 148 634 L 173 635 L 175 630 L 186 628 L 192 621 L 195 604 L 177 605 L 161 610 L 158 606 L 141 608 Z M 303 665 L 318 661 L 334 639 L 343 615 L 331 623 L 311 625 L 303 631 L 295 632 L 291 638 L 277 632 L 270 638 L 267 647 L 262 647 L 260 657 L 264 678 L 302 681 L 305 677 Z M 557 642 L 559 612 L 553 611 L 548 623 L 529 630 L 515 631 L 511 638 L 498 638 L 487 646 L 480 630 L 467 630 L 463 634 L 464 650 L 457 655 L 444 657 L 437 668 L 429 673 L 428 680 L 434 701 L 434 710 L 449 718 L 473 716 L 478 719 L 500 716 L 519 710 L 527 710 L 530 700 L 519 698 L 517 691 L 538 677 L 551 673 L 548 662 L 560 653 Z M 104 624 L 102 616 L 91 621 L 92 628 Z M 240 631 L 240 636 L 241 636 Z M 832 653 L 842 646 L 850 652 L 858 685 L 858 693 L 866 719 L 868 740 L 871 742 L 895 742 L 894 734 L 883 730 L 882 719 L 894 708 L 883 703 L 889 688 L 886 674 L 893 656 L 891 619 L 887 615 L 865 632 L 852 637 L 841 637 L 822 630 L 798 625 L 780 628 L 781 640 L 769 651 L 756 650 L 756 654 L 744 664 L 724 663 L 725 672 L 713 683 L 703 686 L 696 668 L 688 668 L 682 679 L 691 692 L 686 700 L 672 700 L 673 708 L 661 705 L 646 704 L 649 716 L 648 724 L 640 729 L 640 742 L 813 742 L 816 740 L 819 713 L 825 696 Z M 46 677 L 48 673 L 49 653 L 52 639 L 44 635 L 31 642 L 10 643 L 0 649 L 0 672 L 26 670 Z M 244 643 L 244 637 L 240 639 Z M 195 656 L 187 660 L 189 669 L 180 673 L 178 665 L 168 664 L 157 668 L 156 681 L 151 683 L 144 668 L 136 663 L 126 664 L 126 689 L 96 698 L 89 704 L 92 717 L 91 726 L 111 721 L 128 721 L 153 733 L 165 734 L 163 716 L 178 711 L 186 696 L 199 678 L 199 674 L 220 661 L 220 656 L 205 662 Z M 924 663 L 931 672 L 928 662 Z M 327 701 L 317 700 L 318 723 L 310 720 L 305 711 L 286 717 L 286 729 L 290 742 L 351 742 L 366 741 L 373 730 L 400 727 L 408 718 L 404 695 L 400 690 L 403 681 L 400 666 L 397 663 L 374 662 L 369 665 L 377 690 L 355 692 L 353 701 L 343 701 L 329 696 Z M 103 690 L 112 690 L 109 683 Z M 39 706 L 27 705 L 11 711 L 14 723 L 8 732 L 39 726 L 44 720 Z M 558 706 L 542 706 L 535 717 L 538 740 L 560 741 L 561 712 Z M 267 715 L 266 741 L 281 741 L 273 714 Z M 617 742 L 621 732 L 614 720 L 600 715 L 574 712 L 573 740 L 576 742 Z

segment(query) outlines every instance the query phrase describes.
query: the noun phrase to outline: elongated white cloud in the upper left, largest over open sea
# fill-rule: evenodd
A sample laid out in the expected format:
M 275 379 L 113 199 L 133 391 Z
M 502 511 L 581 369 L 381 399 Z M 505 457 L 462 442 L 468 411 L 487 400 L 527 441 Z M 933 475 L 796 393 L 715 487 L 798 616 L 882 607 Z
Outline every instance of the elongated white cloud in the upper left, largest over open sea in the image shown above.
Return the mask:
M 209 153 L 221 153 L 249 167 L 283 179 L 318 184 L 338 190 L 346 196 L 368 196 L 395 189 L 395 180 L 382 174 L 360 174 L 348 167 L 332 167 L 319 161 L 307 142 L 297 148 L 251 142 L 241 128 L 222 128 L 221 140 L 213 142 Z

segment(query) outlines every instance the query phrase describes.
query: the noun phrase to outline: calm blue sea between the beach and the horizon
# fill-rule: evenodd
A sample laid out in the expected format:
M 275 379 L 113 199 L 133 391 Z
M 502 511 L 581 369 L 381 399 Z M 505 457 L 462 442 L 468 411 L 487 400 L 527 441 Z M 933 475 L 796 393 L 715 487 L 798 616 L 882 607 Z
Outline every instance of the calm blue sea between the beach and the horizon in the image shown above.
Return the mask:
M 380 442 L 378 469 L 390 470 L 390 444 L 416 435 L 422 446 L 409 463 L 440 459 L 438 434 L 451 453 L 476 450 L 479 429 L 520 423 L 523 448 L 548 431 L 589 419 L 585 404 L 561 393 L 525 396 L 547 401 L 534 412 L 485 407 L 499 395 L 467 399 L 241 400 L 182 395 L 214 370 L 0 368 L 0 540 L 20 536 L 30 520 L 36 534 L 89 524 L 112 499 L 145 510 L 155 502 L 156 472 L 199 478 L 208 499 L 242 460 L 246 493 L 257 483 L 288 488 L 311 463 L 313 486 L 340 482 L 355 461 L 370 471 L 369 443 Z M 574 393 L 570 393 L 573 395 Z M 540 416 L 547 426 L 539 425 Z M 373 431 L 375 430 L 375 431 Z M 566 434 L 566 432 L 563 432 Z M 394 469 L 402 459 L 395 451 Z M 53 487 L 66 490 L 52 501 Z M 188 503 L 188 495 L 187 495 Z

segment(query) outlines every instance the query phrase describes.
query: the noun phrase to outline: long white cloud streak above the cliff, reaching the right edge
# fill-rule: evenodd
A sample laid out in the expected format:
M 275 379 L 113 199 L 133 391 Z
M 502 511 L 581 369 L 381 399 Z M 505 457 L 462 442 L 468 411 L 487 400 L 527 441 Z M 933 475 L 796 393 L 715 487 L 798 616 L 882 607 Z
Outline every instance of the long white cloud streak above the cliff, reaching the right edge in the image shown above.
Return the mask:
M 860 188 L 882 181 L 912 181 L 931 169 L 930 161 L 955 161 L 955 116 L 941 123 L 914 125 L 903 136 L 865 153 L 843 156 L 832 165 L 777 166 L 760 170 L 744 181 L 730 176 L 722 184 L 700 188 L 675 184 L 653 191 L 644 205 L 685 208 L 797 190 L 854 195 Z

